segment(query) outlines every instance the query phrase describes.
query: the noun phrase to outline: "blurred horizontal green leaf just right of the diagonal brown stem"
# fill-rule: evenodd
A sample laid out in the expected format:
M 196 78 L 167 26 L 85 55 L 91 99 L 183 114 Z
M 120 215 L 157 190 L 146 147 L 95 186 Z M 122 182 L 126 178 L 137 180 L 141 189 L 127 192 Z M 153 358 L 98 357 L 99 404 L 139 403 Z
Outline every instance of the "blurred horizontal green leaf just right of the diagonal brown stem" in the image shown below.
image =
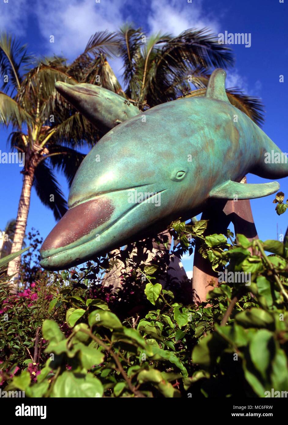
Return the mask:
M 245 328 L 268 328 L 274 329 L 274 318 L 265 310 L 252 307 L 235 316 L 235 320 Z

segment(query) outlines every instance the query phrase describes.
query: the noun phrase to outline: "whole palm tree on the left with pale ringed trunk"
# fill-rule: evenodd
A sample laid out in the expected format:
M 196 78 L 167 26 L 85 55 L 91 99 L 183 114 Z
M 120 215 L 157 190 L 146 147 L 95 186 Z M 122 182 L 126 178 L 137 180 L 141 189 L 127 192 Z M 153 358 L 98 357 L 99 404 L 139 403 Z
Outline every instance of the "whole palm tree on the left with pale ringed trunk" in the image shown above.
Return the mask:
M 106 33 L 94 37 L 94 43 L 68 66 L 66 60 L 59 57 L 35 63 L 27 54 L 26 46 L 6 34 L 0 36 L 0 70 L 6 76 L 0 91 L 0 122 L 12 127 L 11 149 L 25 155 L 11 253 L 23 246 L 32 186 L 43 204 L 51 208 L 54 217 L 61 218 L 67 204 L 53 169 L 62 170 L 71 184 L 84 157 L 75 148 L 91 146 L 101 136 L 74 108 L 60 99 L 54 88 L 55 81 L 82 82 L 84 71 L 93 78 L 102 65 L 101 62 L 95 65 L 95 56 L 98 60 L 107 54 L 115 38 L 107 37 Z M 18 263 L 19 258 L 15 258 L 8 266 L 7 274 L 14 276 L 14 280 L 17 280 Z

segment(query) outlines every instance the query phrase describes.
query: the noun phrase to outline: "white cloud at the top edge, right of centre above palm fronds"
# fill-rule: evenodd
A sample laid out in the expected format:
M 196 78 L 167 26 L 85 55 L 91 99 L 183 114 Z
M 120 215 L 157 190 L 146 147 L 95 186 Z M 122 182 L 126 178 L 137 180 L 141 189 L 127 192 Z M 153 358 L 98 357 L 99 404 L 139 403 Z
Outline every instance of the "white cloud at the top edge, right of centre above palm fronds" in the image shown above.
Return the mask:
M 202 0 L 187 1 L 170 0 L 169 2 L 151 1 L 151 12 L 148 25 L 152 33 L 162 31 L 174 35 L 188 28 L 208 27 L 212 32 L 219 32 L 217 19 L 202 6 Z

